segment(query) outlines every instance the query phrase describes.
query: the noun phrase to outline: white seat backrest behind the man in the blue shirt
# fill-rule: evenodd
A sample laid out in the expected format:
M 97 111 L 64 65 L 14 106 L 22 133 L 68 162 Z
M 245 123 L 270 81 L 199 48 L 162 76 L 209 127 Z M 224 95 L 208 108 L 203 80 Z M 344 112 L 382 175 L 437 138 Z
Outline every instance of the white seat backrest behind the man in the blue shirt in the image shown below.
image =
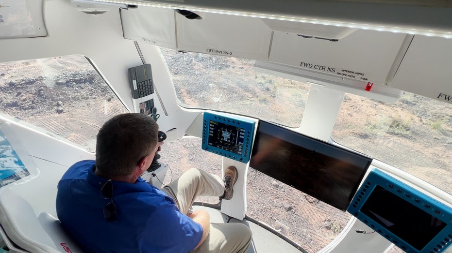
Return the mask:
M 43 196 L 45 197 L 45 196 Z M 82 253 L 63 231 L 60 222 L 48 213 L 36 216 L 33 207 L 11 188 L 0 190 L 0 224 L 8 240 L 32 253 Z

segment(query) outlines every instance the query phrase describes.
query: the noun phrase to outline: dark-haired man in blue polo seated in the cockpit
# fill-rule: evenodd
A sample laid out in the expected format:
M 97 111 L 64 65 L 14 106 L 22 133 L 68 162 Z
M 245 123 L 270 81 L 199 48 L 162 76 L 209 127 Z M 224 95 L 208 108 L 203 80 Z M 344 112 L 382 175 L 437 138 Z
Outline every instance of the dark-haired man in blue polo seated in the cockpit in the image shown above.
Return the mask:
M 144 114 L 121 114 L 99 131 L 96 161 L 72 165 L 58 183 L 56 210 L 65 231 L 86 252 L 246 252 L 251 230 L 210 223 L 189 213 L 199 195 L 231 199 L 237 171 L 224 178 L 192 168 L 162 189 L 140 178 L 163 142 Z

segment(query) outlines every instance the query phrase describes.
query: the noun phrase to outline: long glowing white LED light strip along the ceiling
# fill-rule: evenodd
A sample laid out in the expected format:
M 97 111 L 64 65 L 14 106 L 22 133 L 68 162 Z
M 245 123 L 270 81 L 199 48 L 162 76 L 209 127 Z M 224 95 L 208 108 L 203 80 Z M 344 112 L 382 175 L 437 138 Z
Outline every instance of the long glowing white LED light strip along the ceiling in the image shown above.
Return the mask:
M 129 0 L 129 1 L 128 0 L 84 0 L 84 2 L 88 2 L 88 1 L 117 3 L 117 4 L 124 4 L 124 5 L 150 6 L 150 7 L 168 8 L 168 9 L 185 9 L 185 10 L 190 10 L 190 11 L 199 11 L 199 12 L 214 13 L 214 14 L 268 18 L 268 19 L 291 21 L 291 22 L 301 22 L 301 23 L 319 24 L 319 25 L 327 25 L 327 26 L 357 28 L 357 29 L 363 29 L 363 30 L 389 31 L 389 32 L 395 32 L 395 33 L 407 33 L 407 34 L 452 38 L 452 32 L 447 32 L 447 31 L 420 30 L 420 29 L 410 29 L 410 28 L 401 28 L 401 27 L 386 27 L 386 26 L 371 25 L 371 24 L 357 24 L 357 23 L 351 23 L 351 22 L 319 20 L 319 19 L 284 16 L 284 15 L 266 15 L 266 14 L 259 14 L 259 13 L 250 13 L 250 12 L 215 10 L 215 9 L 208 9 L 208 8 L 187 7 L 183 4 L 178 5 L 178 4 L 174 4 L 174 3 L 168 3 L 168 4 L 150 3 L 147 1 L 140 1 L 140 0 Z M 182 0 L 181 0 L 181 3 L 183 3 Z

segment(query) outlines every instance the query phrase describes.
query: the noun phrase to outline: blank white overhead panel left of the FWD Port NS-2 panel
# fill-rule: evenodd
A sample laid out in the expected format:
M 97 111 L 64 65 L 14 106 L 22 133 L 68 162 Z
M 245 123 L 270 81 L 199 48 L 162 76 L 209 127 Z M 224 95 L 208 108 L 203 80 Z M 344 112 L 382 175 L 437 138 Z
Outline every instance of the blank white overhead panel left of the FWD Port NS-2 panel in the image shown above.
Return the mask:
M 175 49 L 174 15 L 173 9 L 166 8 L 121 9 L 124 38 Z

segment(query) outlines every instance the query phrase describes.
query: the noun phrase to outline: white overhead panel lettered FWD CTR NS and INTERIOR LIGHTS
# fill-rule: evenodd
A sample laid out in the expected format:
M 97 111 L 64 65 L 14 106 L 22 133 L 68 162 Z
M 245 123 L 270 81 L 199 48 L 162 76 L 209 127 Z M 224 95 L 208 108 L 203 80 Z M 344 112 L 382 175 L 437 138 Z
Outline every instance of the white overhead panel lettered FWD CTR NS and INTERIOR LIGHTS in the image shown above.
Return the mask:
M 384 84 L 405 34 L 356 30 L 330 41 L 275 32 L 269 60 L 324 74 Z

